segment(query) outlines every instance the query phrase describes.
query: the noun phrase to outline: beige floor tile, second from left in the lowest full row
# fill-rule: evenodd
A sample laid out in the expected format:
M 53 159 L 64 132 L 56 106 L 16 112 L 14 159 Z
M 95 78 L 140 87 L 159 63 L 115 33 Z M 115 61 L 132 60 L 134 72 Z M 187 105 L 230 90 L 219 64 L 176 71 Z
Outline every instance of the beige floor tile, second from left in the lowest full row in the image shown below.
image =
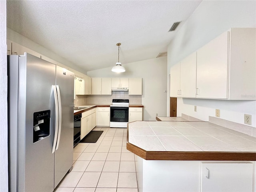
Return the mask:
M 96 187 L 101 172 L 84 172 L 76 187 Z

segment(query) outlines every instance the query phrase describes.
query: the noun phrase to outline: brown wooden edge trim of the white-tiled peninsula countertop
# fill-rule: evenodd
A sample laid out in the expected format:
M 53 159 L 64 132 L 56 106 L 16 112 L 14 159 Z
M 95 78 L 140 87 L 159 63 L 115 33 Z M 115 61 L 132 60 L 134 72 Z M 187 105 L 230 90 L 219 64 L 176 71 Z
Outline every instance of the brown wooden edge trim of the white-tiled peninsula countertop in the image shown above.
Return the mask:
M 146 151 L 129 143 L 128 125 L 126 149 L 145 160 L 256 161 L 256 152 Z

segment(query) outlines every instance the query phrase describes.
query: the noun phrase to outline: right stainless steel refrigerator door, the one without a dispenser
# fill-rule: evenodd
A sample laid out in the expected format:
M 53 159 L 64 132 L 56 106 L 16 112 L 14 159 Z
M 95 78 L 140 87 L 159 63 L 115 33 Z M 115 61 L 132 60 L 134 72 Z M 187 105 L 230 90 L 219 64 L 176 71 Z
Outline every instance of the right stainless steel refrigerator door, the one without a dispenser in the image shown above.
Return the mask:
M 55 151 L 54 188 L 73 164 L 74 73 L 56 66 L 56 85 L 60 88 L 62 126 L 58 149 Z

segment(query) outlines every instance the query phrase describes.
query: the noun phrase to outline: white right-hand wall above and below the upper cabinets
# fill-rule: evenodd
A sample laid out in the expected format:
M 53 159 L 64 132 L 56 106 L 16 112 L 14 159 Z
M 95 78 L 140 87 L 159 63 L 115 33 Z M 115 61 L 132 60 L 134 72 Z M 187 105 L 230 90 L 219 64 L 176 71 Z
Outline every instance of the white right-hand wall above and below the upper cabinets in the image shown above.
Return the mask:
M 256 27 L 256 1 L 203 0 L 168 45 L 168 74 L 172 65 L 232 27 Z M 215 109 L 220 109 L 220 118 L 240 124 L 244 124 L 244 114 L 251 114 L 256 127 L 256 101 L 177 100 L 177 116 L 184 113 L 208 121 Z

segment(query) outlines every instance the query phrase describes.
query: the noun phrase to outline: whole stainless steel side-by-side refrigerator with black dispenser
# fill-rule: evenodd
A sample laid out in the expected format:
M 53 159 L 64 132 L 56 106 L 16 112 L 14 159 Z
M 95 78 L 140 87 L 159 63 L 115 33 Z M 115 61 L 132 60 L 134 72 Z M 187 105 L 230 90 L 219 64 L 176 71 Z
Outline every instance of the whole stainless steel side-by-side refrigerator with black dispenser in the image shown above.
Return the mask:
M 74 73 L 24 53 L 8 56 L 11 192 L 52 192 L 73 164 Z

